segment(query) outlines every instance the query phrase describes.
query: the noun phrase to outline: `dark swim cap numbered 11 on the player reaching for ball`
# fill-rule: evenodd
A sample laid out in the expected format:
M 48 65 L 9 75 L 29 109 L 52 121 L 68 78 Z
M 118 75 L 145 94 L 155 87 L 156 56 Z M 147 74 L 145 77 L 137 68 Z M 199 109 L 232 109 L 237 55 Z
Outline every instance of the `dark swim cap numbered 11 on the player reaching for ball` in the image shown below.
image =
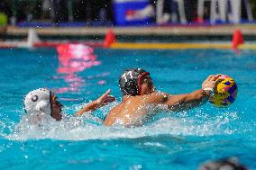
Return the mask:
M 123 72 L 119 77 L 119 87 L 123 95 L 139 95 L 141 94 L 141 78 L 142 76 L 150 76 L 142 68 L 131 68 Z

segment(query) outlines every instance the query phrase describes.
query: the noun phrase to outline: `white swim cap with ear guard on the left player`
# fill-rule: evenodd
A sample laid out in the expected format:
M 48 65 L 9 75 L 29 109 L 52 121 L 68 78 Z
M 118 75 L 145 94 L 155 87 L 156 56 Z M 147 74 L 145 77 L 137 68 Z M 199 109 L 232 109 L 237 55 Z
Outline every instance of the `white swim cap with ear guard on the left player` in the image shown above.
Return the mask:
M 39 88 L 31 91 L 24 98 L 24 107 L 27 113 L 41 112 L 51 115 L 50 90 Z

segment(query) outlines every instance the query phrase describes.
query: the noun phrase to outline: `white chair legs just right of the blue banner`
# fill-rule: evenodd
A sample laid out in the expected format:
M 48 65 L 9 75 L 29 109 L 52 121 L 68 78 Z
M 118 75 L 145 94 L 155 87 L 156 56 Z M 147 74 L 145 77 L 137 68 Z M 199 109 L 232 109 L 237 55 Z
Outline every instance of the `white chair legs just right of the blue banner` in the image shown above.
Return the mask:
M 158 24 L 168 22 L 169 18 L 172 17 L 169 15 L 169 13 L 163 13 L 164 1 L 165 0 L 157 0 L 157 3 L 156 3 L 156 22 Z M 180 22 L 182 24 L 186 24 L 187 18 L 185 13 L 184 0 L 173 0 L 173 1 L 178 4 L 178 13 L 171 12 L 171 14 L 176 14 L 176 16 L 178 14 Z

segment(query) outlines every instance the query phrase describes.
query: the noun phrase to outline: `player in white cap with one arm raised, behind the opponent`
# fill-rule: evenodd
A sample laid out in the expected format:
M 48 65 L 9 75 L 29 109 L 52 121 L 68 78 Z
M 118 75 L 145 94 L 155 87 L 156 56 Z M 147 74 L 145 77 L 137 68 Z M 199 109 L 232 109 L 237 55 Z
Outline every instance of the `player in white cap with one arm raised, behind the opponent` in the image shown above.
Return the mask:
M 88 103 L 84 108 L 75 113 L 75 115 L 82 115 L 84 112 L 94 111 L 97 108 L 108 103 L 114 102 L 115 98 L 107 90 L 105 94 L 100 96 L 95 101 Z M 24 98 L 24 109 L 27 114 L 33 115 L 31 124 L 37 124 L 43 117 L 51 117 L 56 121 L 62 119 L 62 104 L 59 103 L 57 96 L 47 88 L 39 88 L 31 91 Z

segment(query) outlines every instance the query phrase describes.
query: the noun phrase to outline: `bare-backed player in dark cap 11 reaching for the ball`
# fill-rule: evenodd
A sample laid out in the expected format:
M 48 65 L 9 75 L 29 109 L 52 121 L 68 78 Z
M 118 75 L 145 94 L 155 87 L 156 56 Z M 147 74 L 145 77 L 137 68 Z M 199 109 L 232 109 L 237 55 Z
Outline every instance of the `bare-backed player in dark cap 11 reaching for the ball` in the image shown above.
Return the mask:
M 151 116 L 149 106 L 162 104 L 171 112 L 192 109 L 209 99 L 217 83 L 217 76 L 209 76 L 202 88 L 190 94 L 165 94 L 155 90 L 150 73 L 141 68 L 128 69 L 119 78 L 123 93 L 122 103 L 116 105 L 105 117 L 104 124 L 120 123 L 124 126 L 141 126 Z

